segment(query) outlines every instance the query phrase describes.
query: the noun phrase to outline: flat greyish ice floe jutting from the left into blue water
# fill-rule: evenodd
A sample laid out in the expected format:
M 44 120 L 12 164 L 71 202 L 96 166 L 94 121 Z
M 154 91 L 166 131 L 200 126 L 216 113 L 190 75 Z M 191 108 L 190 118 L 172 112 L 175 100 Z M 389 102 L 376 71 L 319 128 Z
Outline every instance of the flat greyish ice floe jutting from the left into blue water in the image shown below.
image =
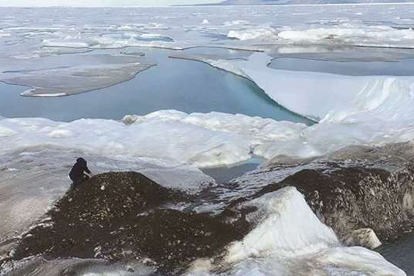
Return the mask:
M 21 67 L 26 70 L 3 71 L 0 79 L 30 87 L 21 95 L 31 97 L 60 97 L 106 88 L 133 79 L 139 72 L 156 65 L 135 56 L 112 55 L 55 57 L 48 63 L 43 63 L 43 59 L 28 62 L 32 66 Z M 36 64 L 47 67 L 37 68 Z

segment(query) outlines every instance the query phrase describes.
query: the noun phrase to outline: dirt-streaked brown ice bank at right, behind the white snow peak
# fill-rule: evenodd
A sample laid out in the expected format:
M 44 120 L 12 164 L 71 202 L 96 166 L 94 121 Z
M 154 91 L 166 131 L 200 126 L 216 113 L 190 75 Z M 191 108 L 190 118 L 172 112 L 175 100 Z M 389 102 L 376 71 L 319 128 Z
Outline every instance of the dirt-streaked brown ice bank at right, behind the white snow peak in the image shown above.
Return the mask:
M 381 242 L 414 228 L 414 144 L 348 147 L 326 157 L 270 161 L 268 168 L 233 181 L 258 187 L 234 206 L 293 186 L 304 194 L 319 219 L 346 243 L 355 231 L 371 228 Z

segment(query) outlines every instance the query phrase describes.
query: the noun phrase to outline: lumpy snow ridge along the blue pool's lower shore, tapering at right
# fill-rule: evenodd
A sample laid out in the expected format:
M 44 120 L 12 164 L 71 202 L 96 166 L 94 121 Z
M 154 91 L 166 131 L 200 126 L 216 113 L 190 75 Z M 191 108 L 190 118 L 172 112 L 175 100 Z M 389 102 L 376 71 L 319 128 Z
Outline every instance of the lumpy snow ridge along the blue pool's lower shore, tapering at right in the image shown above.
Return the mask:
M 299 139 L 304 124 L 272 119 L 165 110 L 119 121 L 81 119 L 59 123 L 48 119 L 1 119 L 1 152 L 25 146 L 55 145 L 106 157 L 150 157 L 200 167 L 236 164 L 250 159 L 255 148 L 274 141 Z M 88 130 L 88 131 L 85 131 Z M 168 139 L 166 139 L 168 137 Z

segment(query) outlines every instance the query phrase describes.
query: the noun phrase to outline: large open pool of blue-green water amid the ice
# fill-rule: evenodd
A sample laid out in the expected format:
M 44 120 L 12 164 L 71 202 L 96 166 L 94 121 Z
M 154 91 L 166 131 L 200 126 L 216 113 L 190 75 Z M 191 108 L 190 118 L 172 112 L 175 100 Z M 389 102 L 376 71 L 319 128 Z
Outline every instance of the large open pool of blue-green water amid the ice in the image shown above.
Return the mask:
M 141 50 L 158 65 L 141 72 L 135 79 L 101 90 L 69 97 L 30 98 L 19 95 L 28 88 L 0 83 L 0 115 L 73 121 L 80 118 L 121 119 L 127 114 L 146 115 L 174 109 L 187 113 L 239 113 L 312 124 L 279 106 L 254 83 L 242 77 L 197 61 L 170 59 L 168 55 L 172 50 Z M 217 51 L 229 50 L 215 49 Z M 70 58 L 70 55 L 66 57 Z

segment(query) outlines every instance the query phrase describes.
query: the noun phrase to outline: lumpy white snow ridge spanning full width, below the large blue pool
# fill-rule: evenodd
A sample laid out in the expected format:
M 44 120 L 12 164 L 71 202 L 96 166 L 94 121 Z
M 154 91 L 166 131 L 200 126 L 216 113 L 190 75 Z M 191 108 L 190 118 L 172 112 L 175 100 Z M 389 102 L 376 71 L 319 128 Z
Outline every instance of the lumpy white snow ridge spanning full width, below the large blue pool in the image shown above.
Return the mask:
M 402 97 L 402 100 L 406 98 Z M 410 102 L 405 103 L 411 106 Z M 391 108 L 377 108 L 376 111 Z M 366 112 L 366 116 L 370 113 Z M 414 139 L 409 114 L 401 120 L 363 114 L 314 126 L 245 115 L 164 110 L 119 121 L 81 119 L 70 123 L 48 119 L 1 119 L 1 153 L 32 146 L 76 148 L 115 158 L 148 157 L 199 167 L 226 166 L 257 155 L 308 158 L 351 145 L 380 146 Z M 386 113 L 385 113 L 386 114 Z M 350 121 L 355 118 L 355 121 Z M 88 130 L 88 131 L 85 131 Z M 98 138 L 97 138 L 98 137 Z

